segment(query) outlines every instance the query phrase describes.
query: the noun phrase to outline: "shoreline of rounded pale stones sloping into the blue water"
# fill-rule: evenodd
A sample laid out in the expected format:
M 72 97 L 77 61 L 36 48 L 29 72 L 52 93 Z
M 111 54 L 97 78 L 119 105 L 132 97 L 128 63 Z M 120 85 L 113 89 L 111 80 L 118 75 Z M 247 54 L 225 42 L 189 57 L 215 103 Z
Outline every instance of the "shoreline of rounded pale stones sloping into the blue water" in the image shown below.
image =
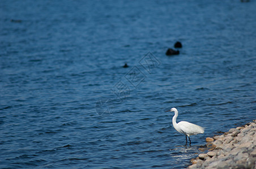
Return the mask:
M 208 152 L 191 159 L 187 168 L 256 169 L 256 119 L 206 141 Z

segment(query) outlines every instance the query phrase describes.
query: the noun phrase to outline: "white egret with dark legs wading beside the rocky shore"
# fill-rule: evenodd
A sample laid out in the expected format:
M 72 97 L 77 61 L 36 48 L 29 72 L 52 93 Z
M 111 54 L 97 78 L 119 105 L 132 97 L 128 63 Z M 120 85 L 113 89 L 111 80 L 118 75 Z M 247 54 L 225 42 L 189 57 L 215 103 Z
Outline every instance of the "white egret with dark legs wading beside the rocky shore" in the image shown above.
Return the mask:
M 172 118 L 172 124 L 173 127 L 180 132 L 181 134 L 185 134 L 186 135 L 186 143 L 187 143 L 187 136 L 191 136 L 191 135 L 197 135 L 197 134 L 203 134 L 204 133 L 204 129 L 203 127 L 200 127 L 196 124 L 190 123 L 190 122 L 186 122 L 186 121 L 181 121 L 179 123 L 176 123 L 176 119 L 178 117 L 178 110 L 176 108 L 172 108 L 166 112 L 174 112 L 174 116 Z M 189 141 L 191 144 L 191 140 L 189 137 Z

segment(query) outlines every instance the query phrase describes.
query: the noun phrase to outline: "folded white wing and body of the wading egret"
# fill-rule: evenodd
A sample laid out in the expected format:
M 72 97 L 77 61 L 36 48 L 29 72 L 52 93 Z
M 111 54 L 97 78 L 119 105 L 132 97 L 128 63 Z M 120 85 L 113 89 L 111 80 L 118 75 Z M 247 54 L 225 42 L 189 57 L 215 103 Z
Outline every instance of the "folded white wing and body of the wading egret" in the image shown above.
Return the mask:
M 204 133 L 203 127 L 190 122 L 181 121 L 178 125 L 180 126 L 181 131 L 188 136 Z

